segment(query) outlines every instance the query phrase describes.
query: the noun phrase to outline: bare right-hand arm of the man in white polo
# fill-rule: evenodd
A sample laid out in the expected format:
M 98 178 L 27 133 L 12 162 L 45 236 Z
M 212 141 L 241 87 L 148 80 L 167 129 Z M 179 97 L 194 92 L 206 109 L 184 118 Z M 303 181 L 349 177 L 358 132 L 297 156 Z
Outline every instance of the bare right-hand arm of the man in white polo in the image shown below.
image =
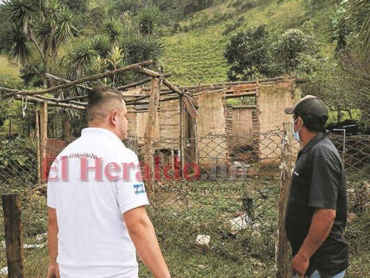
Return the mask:
M 145 206 L 126 211 L 124 220 L 137 253 L 153 275 L 156 278 L 171 277 Z

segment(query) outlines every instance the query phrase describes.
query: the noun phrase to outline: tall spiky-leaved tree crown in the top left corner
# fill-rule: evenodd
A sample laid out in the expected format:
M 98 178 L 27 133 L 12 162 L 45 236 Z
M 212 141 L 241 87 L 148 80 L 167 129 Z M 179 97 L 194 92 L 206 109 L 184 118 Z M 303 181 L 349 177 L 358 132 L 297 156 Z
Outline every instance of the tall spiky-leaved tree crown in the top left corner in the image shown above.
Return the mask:
M 10 55 L 26 65 L 33 56 L 33 44 L 42 58 L 44 72 L 50 73 L 60 46 L 73 36 L 72 12 L 58 0 L 5 0 L 4 8 L 10 22 Z M 52 79 L 49 85 L 53 85 Z

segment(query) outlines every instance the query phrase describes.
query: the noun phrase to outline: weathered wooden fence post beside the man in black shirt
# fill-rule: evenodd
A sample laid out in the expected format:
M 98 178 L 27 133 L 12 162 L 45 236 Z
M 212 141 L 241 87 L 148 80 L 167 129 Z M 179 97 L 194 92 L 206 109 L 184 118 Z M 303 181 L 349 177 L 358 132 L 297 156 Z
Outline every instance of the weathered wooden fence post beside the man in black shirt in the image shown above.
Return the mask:
M 276 278 L 288 275 L 288 242 L 284 220 L 292 181 L 292 123 L 284 122 L 282 155 L 280 164 L 280 197 L 278 203 L 278 234 L 276 237 Z

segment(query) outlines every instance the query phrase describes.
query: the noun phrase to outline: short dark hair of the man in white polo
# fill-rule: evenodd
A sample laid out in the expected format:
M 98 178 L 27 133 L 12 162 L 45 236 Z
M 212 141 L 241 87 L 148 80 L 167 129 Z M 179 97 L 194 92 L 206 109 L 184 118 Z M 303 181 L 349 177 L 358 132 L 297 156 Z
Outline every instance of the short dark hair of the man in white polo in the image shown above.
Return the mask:
M 87 120 L 106 117 L 108 113 L 121 108 L 124 96 L 115 88 L 96 87 L 87 95 Z

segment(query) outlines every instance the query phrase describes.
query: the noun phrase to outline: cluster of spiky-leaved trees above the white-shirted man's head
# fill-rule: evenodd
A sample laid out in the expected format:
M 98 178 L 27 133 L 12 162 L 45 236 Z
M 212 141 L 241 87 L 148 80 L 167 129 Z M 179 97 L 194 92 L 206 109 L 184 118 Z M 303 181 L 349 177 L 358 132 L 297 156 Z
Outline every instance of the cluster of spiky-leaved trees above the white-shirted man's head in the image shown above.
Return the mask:
M 106 19 L 101 26 L 103 35 L 76 42 L 67 49 L 66 75 L 69 79 L 76 79 L 87 73 L 96 74 L 105 70 L 115 70 L 143 60 L 153 60 L 155 66 L 164 49 L 162 40 L 154 33 L 158 13 L 158 8 L 153 4 L 147 4 L 133 22 L 131 17 L 126 19 L 125 24 L 122 24 L 119 18 Z M 148 23 L 145 23 L 146 19 Z M 134 79 L 132 74 L 124 73 L 106 79 L 105 83 L 119 86 Z

